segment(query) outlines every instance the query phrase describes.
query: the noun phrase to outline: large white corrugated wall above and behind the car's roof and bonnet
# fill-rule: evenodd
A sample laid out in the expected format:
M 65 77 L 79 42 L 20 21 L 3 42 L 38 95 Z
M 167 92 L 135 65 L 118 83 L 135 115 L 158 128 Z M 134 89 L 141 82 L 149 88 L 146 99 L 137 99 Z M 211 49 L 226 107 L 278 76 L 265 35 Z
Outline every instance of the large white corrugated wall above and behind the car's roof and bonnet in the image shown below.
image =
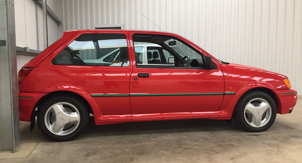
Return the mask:
M 221 60 L 284 74 L 302 94 L 302 0 L 63 0 L 58 14 L 60 35 L 98 24 L 161 29 Z

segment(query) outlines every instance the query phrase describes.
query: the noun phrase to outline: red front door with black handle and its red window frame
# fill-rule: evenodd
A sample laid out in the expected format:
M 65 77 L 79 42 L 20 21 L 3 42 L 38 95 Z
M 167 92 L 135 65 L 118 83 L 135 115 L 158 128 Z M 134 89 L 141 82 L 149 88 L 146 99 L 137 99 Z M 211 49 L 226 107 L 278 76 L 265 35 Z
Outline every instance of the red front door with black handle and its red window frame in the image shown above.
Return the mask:
M 135 35 L 136 37 L 133 40 Z M 133 44 L 147 42 L 145 47 L 157 44 L 157 46 L 166 50 L 169 49 L 169 53 L 171 52 L 171 55 L 176 56 L 178 62 L 184 56 L 203 60 L 202 54 L 206 54 L 206 52 L 175 34 L 165 33 L 162 35 L 151 31 L 130 31 L 129 39 L 133 58 L 133 71 L 129 88 L 133 121 L 135 119 L 156 119 L 156 117 L 165 116 L 200 117 L 211 115 L 214 118 L 217 115 L 224 92 L 223 73 L 218 63 L 215 62 L 216 68 L 212 69 L 181 68 L 176 67 L 178 66 L 176 64 L 175 67 L 168 67 L 164 64 L 160 65 L 161 67 L 137 66 Z M 178 41 L 178 44 L 168 46 L 169 41 L 172 40 Z M 183 50 L 179 51 L 179 49 Z M 149 75 L 139 76 L 139 73 Z M 186 114 L 180 115 L 178 113 Z

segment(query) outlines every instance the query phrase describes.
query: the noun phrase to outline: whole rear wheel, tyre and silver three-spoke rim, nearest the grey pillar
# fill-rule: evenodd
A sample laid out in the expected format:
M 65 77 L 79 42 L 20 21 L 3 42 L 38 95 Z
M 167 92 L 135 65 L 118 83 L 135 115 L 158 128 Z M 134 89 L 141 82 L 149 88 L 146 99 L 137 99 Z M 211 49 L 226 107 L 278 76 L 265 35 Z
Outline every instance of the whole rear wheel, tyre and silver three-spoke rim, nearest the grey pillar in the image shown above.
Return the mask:
M 37 113 L 37 123 L 42 134 L 59 142 L 78 137 L 85 130 L 88 118 L 86 105 L 72 95 L 47 99 Z

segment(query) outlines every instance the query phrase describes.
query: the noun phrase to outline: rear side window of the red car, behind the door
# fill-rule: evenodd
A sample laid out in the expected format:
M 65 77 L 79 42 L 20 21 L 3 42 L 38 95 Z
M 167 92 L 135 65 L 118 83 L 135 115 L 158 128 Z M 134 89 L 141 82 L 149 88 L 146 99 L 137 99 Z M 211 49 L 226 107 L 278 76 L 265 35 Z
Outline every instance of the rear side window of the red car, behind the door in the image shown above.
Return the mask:
M 83 34 L 66 46 L 52 63 L 55 65 L 130 65 L 126 35 Z

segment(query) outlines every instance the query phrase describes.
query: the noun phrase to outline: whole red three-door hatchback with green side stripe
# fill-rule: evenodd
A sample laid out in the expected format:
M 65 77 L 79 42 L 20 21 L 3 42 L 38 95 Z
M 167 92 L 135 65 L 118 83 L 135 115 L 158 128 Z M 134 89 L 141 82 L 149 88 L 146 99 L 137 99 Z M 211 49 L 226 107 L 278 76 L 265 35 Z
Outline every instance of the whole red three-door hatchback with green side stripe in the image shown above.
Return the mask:
M 19 71 L 21 121 L 37 117 L 55 141 L 96 125 L 176 119 L 231 119 L 249 132 L 291 113 L 286 76 L 223 62 L 182 36 L 157 31 L 74 30 Z

